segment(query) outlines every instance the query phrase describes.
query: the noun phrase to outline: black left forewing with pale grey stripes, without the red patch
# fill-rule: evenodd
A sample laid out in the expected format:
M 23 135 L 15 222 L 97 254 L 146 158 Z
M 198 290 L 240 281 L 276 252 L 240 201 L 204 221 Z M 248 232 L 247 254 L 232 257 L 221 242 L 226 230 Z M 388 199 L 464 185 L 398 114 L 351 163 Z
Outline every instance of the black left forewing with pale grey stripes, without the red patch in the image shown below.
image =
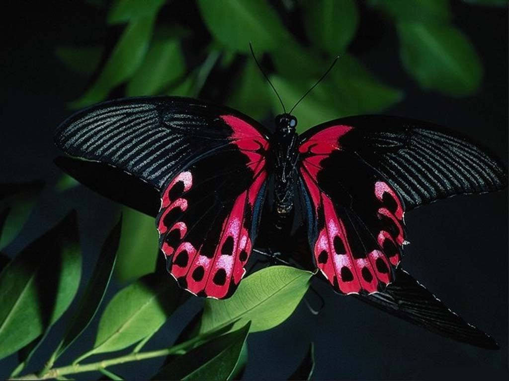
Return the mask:
M 180 97 L 130 98 L 81 110 L 55 132 L 67 154 L 120 168 L 161 190 L 191 162 L 230 144 L 234 131 L 220 115 L 236 115 L 267 138 L 261 124 L 238 111 Z

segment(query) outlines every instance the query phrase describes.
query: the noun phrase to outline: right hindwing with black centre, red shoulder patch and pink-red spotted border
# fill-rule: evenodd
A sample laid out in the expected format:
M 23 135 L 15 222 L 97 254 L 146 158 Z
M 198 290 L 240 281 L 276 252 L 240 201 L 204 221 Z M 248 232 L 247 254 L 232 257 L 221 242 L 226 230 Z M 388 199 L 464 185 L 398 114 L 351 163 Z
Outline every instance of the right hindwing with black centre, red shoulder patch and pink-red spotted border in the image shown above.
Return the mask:
M 344 294 L 374 293 L 392 279 L 404 243 L 403 206 L 371 168 L 341 149 L 347 125 L 330 125 L 300 145 L 300 173 L 313 202 L 317 267 Z

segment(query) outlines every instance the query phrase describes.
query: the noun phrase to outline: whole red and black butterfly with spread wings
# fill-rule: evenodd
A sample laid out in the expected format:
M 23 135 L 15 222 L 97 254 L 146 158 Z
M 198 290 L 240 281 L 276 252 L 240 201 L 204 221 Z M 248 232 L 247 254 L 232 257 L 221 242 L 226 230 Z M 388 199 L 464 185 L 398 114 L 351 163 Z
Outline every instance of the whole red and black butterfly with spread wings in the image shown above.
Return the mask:
M 87 160 L 77 166 L 59 160 L 81 181 L 89 173 L 84 182 L 100 177 L 94 187 L 107 196 L 126 203 L 126 194 L 134 193 L 139 197 L 131 206 L 151 214 L 158 209 L 167 269 L 195 295 L 228 297 L 254 248 L 282 251 L 305 241 L 294 261 L 318 268 L 336 292 L 495 347 L 399 264 L 404 213 L 503 188 L 507 176 L 497 160 L 422 121 L 347 117 L 302 135 L 296 125 L 289 113 L 278 115 L 269 130 L 238 111 L 194 99 L 135 98 L 78 112 L 55 141 Z M 99 168 L 97 162 L 107 175 L 86 170 Z

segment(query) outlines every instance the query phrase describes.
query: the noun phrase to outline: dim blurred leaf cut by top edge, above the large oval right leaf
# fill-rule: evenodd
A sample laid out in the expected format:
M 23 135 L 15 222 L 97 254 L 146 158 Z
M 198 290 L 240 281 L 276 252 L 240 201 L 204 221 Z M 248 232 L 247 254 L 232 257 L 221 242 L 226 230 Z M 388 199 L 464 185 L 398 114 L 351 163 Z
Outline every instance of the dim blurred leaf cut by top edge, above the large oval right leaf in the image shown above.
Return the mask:
M 448 0 L 371 0 L 369 3 L 397 21 L 447 23 L 450 20 Z

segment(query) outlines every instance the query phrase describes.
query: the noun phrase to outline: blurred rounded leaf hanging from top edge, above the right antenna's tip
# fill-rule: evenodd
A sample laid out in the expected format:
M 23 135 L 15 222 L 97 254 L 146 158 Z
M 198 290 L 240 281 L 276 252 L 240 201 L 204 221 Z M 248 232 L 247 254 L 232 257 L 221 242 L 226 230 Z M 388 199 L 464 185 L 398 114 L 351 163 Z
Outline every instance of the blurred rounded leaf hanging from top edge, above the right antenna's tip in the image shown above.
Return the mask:
M 345 51 L 357 31 L 353 0 L 303 2 L 304 25 L 313 44 L 334 56 Z

